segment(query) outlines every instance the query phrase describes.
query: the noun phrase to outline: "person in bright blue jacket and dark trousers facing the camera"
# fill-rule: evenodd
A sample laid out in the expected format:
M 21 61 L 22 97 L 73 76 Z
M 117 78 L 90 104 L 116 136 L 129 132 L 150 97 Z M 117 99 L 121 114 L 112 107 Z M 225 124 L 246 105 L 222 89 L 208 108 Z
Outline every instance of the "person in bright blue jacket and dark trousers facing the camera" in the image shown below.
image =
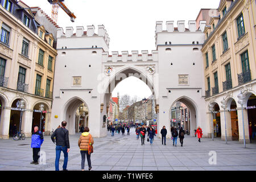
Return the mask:
M 39 126 L 35 125 L 34 126 L 34 131 L 32 132 L 31 136 L 31 148 L 33 151 L 33 161 L 30 164 L 39 164 L 38 159 L 39 155 L 38 153 L 40 152 L 40 148 L 43 144 L 44 137 L 41 131 L 38 130 Z

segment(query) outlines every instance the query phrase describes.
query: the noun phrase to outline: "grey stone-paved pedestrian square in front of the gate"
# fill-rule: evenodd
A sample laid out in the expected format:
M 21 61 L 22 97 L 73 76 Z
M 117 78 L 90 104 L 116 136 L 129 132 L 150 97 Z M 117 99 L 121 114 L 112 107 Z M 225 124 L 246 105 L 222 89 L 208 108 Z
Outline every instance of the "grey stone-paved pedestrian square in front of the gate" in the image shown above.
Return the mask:
M 70 135 L 71 151 L 68 156 L 68 170 L 81 170 L 81 155 L 77 141 L 81 133 Z M 31 138 L 14 141 L 12 138 L 0 139 L 0 170 L 55 170 L 55 144 L 49 136 L 44 136 L 41 151 L 46 152 L 46 164 L 30 164 L 32 162 Z M 210 151 L 215 151 L 216 164 L 209 164 Z M 63 153 L 60 158 L 60 169 L 63 164 Z M 172 146 L 167 139 L 167 145 L 162 145 L 159 138 L 155 138 L 152 145 L 145 139 L 137 140 L 135 130 L 130 135 L 122 136 L 115 133 L 111 137 L 94 138 L 94 152 L 91 155 L 92 170 L 96 171 L 174 171 L 174 170 L 256 170 L 256 144 L 243 144 L 238 141 L 229 141 L 225 144 L 220 139 L 201 139 L 185 135 L 184 146 Z M 85 160 L 85 169 L 88 169 Z

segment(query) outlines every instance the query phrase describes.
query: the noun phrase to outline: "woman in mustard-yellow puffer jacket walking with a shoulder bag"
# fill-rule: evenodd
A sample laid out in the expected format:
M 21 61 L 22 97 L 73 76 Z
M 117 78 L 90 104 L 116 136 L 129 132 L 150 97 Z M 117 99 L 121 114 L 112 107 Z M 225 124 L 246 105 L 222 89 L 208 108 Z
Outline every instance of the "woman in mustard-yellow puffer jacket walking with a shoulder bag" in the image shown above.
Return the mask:
M 89 171 L 90 171 L 90 169 L 92 169 L 92 165 L 90 163 L 90 154 L 88 153 L 89 140 L 90 140 L 90 144 L 92 145 L 94 143 L 93 137 L 91 134 L 89 134 L 89 128 L 85 127 L 84 133 L 81 134 L 81 136 L 79 138 L 79 142 L 78 142 L 81 157 L 82 157 L 82 162 L 81 162 L 82 171 L 84 171 L 85 155 L 87 158 Z

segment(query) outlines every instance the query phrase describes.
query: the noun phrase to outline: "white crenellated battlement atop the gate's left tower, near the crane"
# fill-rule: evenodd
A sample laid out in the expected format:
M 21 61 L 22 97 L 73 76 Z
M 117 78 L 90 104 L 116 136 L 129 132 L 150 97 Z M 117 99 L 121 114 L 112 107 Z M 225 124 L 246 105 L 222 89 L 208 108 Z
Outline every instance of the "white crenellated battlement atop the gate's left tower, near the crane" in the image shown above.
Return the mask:
M 77 26 L 76 32 L 74 32 L 73 27 L 66 27 L 65 33 L 63 28 L 57 28 L 57 38 L 75 38 L 75 37 L 95 37 L 95 36 L 103 36 L 106 44 L 109 46 L 110 38 L 104 25 L 98 25 L 98 32 L 96 34 L 94 25 L 87 26 L 87 30 L 84 30 L 83 26 Z

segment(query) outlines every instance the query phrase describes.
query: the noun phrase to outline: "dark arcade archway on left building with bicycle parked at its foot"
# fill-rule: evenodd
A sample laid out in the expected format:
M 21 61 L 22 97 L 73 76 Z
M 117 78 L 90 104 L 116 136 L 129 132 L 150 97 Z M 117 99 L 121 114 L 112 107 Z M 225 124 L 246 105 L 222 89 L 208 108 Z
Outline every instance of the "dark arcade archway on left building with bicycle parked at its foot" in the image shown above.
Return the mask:
M 20 110 L 18 107 L 19 101 L 22 99 L 16 99 L 13 101 L 11 104 L 11 114 L 10 114 L 10 125 L 9 125 L 9 137 L 13 137 L 14 133 L 16 131 L 23 130 L 21 131 L 24 132 L 23 126 L 25 122 L 25 114 L 24 111 Z M 26 102 L 24 102 L 24 108 L 26 108 Z M 21 123 L 21 126 L 20 126 Z

